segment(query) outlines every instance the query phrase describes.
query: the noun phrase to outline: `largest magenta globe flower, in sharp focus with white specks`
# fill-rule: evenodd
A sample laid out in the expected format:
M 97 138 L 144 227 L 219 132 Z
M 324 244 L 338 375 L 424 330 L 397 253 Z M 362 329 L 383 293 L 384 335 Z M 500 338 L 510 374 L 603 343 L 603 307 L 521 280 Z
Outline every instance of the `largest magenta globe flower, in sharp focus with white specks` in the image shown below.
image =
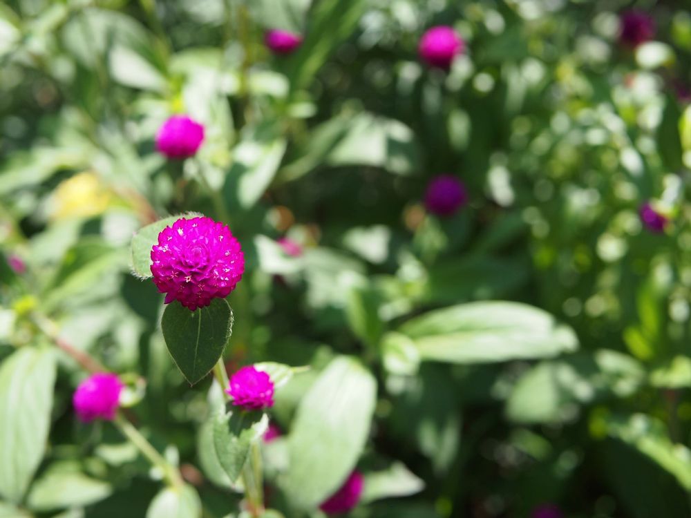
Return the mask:
M 211 218 L 180 218 L 158 234 L 151 249 L 151 274 L 165 303 L 180 301 L 194 311 L 226 298 L 243 277 L 240 242 Z

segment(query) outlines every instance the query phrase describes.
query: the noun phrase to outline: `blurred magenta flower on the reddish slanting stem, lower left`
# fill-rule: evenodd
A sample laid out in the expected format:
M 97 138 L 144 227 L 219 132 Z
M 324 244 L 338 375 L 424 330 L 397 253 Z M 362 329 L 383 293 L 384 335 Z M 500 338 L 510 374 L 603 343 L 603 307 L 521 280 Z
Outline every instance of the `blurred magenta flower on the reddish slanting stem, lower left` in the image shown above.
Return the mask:
M 79 383 L 72 397 L 79 420 L 88 423 L 94 419 L 114 419 L 123 387 L 116 374 L 107 372 L 92 374 Z

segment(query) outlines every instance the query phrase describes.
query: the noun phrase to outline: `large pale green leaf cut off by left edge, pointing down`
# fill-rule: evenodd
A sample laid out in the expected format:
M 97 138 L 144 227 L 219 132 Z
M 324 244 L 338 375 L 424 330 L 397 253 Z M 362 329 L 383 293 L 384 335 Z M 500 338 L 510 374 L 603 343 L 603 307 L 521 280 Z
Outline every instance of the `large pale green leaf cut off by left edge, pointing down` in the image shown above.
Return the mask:
M 0 495 L 19 502 L 46 450 L 55 355 L 23 347 L 0 367 Z

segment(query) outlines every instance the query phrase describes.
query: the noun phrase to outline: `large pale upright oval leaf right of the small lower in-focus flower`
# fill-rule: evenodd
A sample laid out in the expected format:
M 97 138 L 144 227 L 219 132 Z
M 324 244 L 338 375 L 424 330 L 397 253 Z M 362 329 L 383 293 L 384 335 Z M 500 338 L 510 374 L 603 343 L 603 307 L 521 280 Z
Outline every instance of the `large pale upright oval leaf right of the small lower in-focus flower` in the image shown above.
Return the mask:
M 296 508 L 311 509 L 337 490 L 360 457 L 377 383 L 358 361 L 340 356 L 303 397 L 288 437 L 282 485 Z

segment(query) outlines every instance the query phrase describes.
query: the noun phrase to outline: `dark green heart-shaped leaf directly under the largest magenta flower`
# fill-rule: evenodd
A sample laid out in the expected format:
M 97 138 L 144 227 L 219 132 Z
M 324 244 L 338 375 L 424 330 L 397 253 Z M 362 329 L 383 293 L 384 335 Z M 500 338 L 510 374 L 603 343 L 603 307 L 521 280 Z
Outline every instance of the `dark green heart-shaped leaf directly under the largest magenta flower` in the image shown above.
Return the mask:
M 166 306 L 163 338 L 182 375 L 194 385 L 214 368 L 233 330 L 233 311 L 223 298 L 190 311 L 178 300 Z

